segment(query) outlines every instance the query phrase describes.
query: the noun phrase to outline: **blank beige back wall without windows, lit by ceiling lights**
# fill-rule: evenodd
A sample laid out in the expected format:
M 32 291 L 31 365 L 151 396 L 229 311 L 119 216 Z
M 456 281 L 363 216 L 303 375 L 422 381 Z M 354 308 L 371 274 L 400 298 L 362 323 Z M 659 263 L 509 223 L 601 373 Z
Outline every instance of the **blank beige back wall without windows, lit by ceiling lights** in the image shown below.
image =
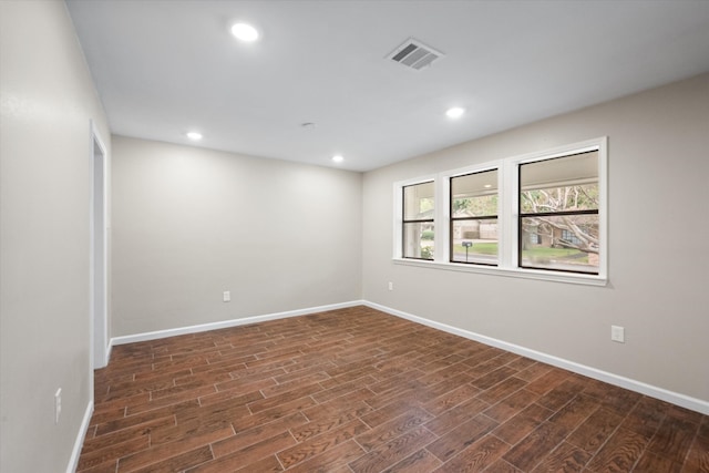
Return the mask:
M 360 299 L 360 173 L 122 136 L 112 160 L 114 337 Z

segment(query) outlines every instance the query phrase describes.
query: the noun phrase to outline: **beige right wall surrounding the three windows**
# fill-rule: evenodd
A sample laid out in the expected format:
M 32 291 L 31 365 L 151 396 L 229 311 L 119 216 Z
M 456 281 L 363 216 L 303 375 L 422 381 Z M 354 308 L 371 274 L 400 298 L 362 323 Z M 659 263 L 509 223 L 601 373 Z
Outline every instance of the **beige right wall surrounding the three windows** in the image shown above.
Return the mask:
M 604 135 L 607 287 L 392 263 L 394 182 Z M 707 150 L 709 74 L 367 173 L 363 299 L 709 402 Z

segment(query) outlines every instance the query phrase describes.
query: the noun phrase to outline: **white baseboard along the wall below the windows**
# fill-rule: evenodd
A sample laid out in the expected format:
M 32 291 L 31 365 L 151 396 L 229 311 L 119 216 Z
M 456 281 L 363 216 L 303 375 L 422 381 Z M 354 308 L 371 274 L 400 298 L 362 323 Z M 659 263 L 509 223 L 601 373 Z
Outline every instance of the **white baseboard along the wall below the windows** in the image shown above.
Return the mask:
M 392 309 L 390 307 L 381 306 L 379 304 L 369 302 L 369 301 L 363 301 L 362 304 L 367 307 L 381 310 L 382 312 L 387 312 L 392 316 L 401 317 L 403 319 L 411 320 L 413 322 L 418 322 L 438 330 L 442 330 L 449 333 L 464 337 L 470 340 L 475 340 L 492 347 L 501 348 L 503 350 L 511 351 L 513 353 L 521 354 L 536 361 L 542 361 L 544 363 L 552 364 L 557 368 L 563 368 L 565 370 L 573 371 L 575 373 L 596 379 L 598 381 L 607 382 L 608 384 L 614 384 L 630 391 L 639 392 L 650 398 L 670 402 L 672 404 L 680 405 L 682 408 L 690 409 L 692 411 L 697 411 L 705 415 L 709 415 L 709 402 L 703 401 L 701 399 L 691 398 L 689 395 L 669 391 L 662 388 L 658 388 L 656 385 L 647 384 L 641 381 L 636 381 L 636 380 L 625 378 L 618 374 L 614 374 L 607 371 L 598 370 L 596 368 L 587 367 L 585 364 L 576 363 L 574 361 L 568 361 L 563 358 L 543 353 L 541 351 L 531 350 L 528 348 L 520 347 L 514 343 L 508 343 L 506 341 L 497 340 L 491 337 L 485 337 L 483 335 L 459 329 L 456 327 L 448 326 L 445 323 L 435 322 L 433 320 L 413 316 L 411 313 Z

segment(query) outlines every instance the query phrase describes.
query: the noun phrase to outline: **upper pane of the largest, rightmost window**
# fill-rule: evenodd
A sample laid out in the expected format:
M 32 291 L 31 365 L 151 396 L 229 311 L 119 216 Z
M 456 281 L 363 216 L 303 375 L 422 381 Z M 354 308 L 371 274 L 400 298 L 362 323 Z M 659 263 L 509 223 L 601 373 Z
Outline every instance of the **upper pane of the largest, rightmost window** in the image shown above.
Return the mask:
M 598 152 L 520 166 L 523 214 L 598 209 Z

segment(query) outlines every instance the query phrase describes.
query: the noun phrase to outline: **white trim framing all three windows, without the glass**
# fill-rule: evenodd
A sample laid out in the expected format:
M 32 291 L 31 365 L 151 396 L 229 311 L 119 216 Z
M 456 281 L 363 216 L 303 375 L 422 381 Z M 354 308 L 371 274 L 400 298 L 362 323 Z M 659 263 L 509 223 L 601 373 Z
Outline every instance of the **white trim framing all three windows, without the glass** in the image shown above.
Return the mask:
M 397 265 L 415 266 L 431 269 L 441 269 L 461 273 L 475 273 L 483 275 L 514 277 L 524 279 L 551 280 L 557 282 L 580 284 L 589 286 L 606 286 L 608 284 L 608 137 L 602 136 L 579 143 L 558 146 L 536 153 L 528 153 L 504 160 L 481 163 L 473 166 L 446 171 L 434 175 L 420 176 L 413 179 L 394 183 L 394 241 L 393 263 Z M 598 151 L 598 226 L 599 226 L 599 260 L 598 274 L 586 275 L 580 273 L 563 273 L 542 269 L 520 268 L 518 260 L 518 168 L 521 164 L 535 161 L 562 157 L 587 151 Z M 499 266 L 470 265 L 450 261 L 450 178 L 473 172 L 482 172 L 497 168 L 497 185 L 500 192 L 497 208 L 497 225 L 501 228 L 502 238 L 499 241 Z M 424 182 L 435 183 L 435 240 L 434 259 L 432 261 L 401 257 L 402 237 L 402 196 L 401 188 L 412 184 Z M 503 213 L 503 209 L 511 209 Z

